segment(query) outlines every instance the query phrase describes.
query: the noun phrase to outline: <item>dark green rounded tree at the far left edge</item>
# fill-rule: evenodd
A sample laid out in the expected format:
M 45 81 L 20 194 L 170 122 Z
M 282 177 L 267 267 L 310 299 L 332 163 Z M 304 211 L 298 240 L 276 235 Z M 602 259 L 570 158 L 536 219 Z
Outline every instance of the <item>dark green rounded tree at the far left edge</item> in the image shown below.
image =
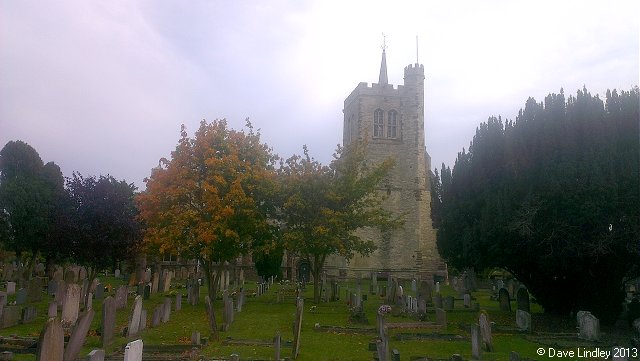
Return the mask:
M 22 141 L 10 141 L 0 151 L 0 236 L 18 256 L 43 253 L 62 257 L 60 221 L 66 193 L 60 168 L 43 164 L 38 152 Z

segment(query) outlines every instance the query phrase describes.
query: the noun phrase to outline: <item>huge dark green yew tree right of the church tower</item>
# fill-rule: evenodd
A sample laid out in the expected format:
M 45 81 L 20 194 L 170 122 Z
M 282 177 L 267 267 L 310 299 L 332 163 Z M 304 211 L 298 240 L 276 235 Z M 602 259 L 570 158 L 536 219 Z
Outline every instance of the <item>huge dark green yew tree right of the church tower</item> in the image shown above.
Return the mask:
M 615 320 L 640 274 L 638 88 L 527 100 L 480 125 L 432 184 L 438 248 L 454 267 L 502 267 L 547 311 Z

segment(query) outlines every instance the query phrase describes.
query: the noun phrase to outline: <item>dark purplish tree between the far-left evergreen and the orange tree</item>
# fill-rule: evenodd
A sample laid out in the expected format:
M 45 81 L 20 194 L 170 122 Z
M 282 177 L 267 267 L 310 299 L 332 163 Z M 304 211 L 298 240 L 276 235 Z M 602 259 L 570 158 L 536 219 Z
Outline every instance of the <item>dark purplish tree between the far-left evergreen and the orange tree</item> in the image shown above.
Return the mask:
M 133 184 L 112 176 L 67 179 L 74 214 L 71 258 L 97 271 L 130 258 L 142 240 Z

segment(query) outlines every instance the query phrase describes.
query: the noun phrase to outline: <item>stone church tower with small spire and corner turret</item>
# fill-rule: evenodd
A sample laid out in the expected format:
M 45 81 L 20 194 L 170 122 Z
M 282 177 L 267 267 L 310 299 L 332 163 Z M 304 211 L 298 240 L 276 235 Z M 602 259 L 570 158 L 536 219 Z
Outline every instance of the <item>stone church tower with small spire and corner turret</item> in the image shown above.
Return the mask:
M 368 257 L 349 262 L 334 257 L 327 271 L 366 277 L 371 272 L 390 272 L 397 277 L 433 279 L 446 277 L 446 266 L 436 247 L 431 223 L 431 158 L 424 142 L 424 66 L 404 68 L 404 84 L 394 88 L 387 77 L 383 47 L 378 83 L 360 83 L 344 101 L 343 144 L 367 139 L 367 157 L 372 162 L 395 159 L 388 181 L 379 190 L 384 206 L 405 214 L 404 226 L 382 233 L 360 230 L 378 249 Z

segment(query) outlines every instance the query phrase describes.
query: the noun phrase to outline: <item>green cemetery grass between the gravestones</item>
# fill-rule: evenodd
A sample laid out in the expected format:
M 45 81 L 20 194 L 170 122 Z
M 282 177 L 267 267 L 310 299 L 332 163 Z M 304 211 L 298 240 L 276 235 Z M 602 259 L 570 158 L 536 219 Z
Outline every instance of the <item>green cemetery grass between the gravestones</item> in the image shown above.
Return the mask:
M 111 284 L 115 290 L 117 286 L 123 284 L 124 281 L 115 278 L 100 277 L 103 284 Z M 210 337 L 208 331 L 208 323 L 204 311 L 203 299 L 206 290 L 201 289 L 200 302 L 198 305 L 192 306 L 186 302 L 186 289 L 181 288 L 178 282 L 173 286 L 170 292 L 164 294 L 154 294 L 149 300 L 144 300 L 143 308 L 147 310 L 147 328 L 136 337 L 126 338 L 123 336 L 123 330 L 128 325 L 128 319 L 133 305 L 133 294 L 129 295 L 127 308 L 121 309 L 116 315 L 116 335 L 113 342 L 106 348 L 108 354 L 121 353 L 127 342 L 142 338 L 146 346 L 172 346 L 184 345 L 188 350 L 191 343 L 191 334 L 199 331 L 202 337 Z M 225 340 L 244 341 L 251 343 L 263 341 L 270 344 L 277 332 L 282 336 L 281 357 L 291 356 L 290 342 L 293 339 L 293 322 L 295 320 L 296 307 L 294 301 L 289 299 L 278 303 L 276 301 L 276 292 L 280 285 L 274 285 L 266 294 L 259 297 L 252 295 L 255 290 L 255 283 L 245 284 L 245 290 L 248 298 L 242 309 L 242 312 L 236 313 L 234 322 L 227 332 L 220 333 L 220 341 L 209 341 L 203 346 L 199 352 L 207 357 L 228 357 L 236 353 L 242 359 L 273 359 L 274 349 L 265 345 L 227 345 Z M 345 289 L 351 287 L 355 289 L 354 284 L 341 285 L 341 300 L 329 303 L 313 304 L 312 287 L 307 287 L 305 296 L 304 315 L 302 320 L 301 346 L 298 360 L 371 360 L 372 351 L 369 351 L 369 343 L 375 341 L 375 315 L 378 307 L 384 304 L 384 299 L 376 295 L 368 295 L 365 301 L 365 314 L 368 318 L 368 324 L 352 324 L 349 322 L 350 310 L 345 298 Z M 407 287 L 408 288 L 408 287 Z M 368 285 L 363 284 L 363 289 L 368 290 Z M 175 294 L 181 292 L 183 294 L 182 310 L 175 310 Z M 111 294 L 114 294 L 113 291 Z M 409 292 L 411 294 L 411 292 Z M 444 295 L 454 295 L 455 292 L 449 287 L 442 287 Z M 515 311 L 502 312 L 498 308 L 498 303 L 490 299 L 488 291 L 480 290 L 473 293 L 473 302 L 480 303 L 480 309 L 485 310 L 489 314 L 490 321 L 496 322 L 499 326 L 515 327 Z M 106 296 L 105 296 L 106 297 Z M 161 324 L 157 328 L 150 328 L 153 309 L 156 305 L 161 304 L 164 297 L 172 298 L 172 313 L 169 322 Z M 34 322 L 28 324 L 20 324 L 8 329 L 0 331 L 0 335 L 18 335 L 38 337 L 42 327 L 46 321 L 47 306 L 51 298 L 44 297 L 43 301 L 38 303 L 38 317 Z M 9 301 L 12 301 L 10 298 Z M 456 300 L 456 309 L 460 310 L 461 300 Z M 102 318 L 102 302 L 94 300 L 94 309 L 96 316 L 93 319 L 89 335 L 81 352 L 81 356 L 88 354 L 91 350 L 102 348 L 100 342 L 100 321 Z M 512 302 L 515 309 L 515 302 Z M 216 319 L 219 325 L 222 325 L 222 302 L 217 300 L 215 303 Z M 538 305 L 532 303 L 533 316 L 540 317 L 542 310 Z M 60 314 L 60 311 L 58 312 Z M 461 354 L 465 359 L 471 359 L 471 346 L 469 339 L 469 327 L 477 322 L 478 312 L 460 310 L 447 312 L 446 328 L 429 328 L 429 329 L 390 329 L 390 350 L 398 349 L 402 360 L 409 360 L 410 356 L 429 356 L 430 358 L 449 358 L 452 354 Z M 427 321 L 434 321 L 435 316 L 433 310 L 429 310 Z M 408 323 L 416 322 L 416 320 L 408 316 L 386 316 L 387 323 Z M 570 322 L 566 323 L 567 325 Z M 319 326 L 334 326 L 334 329 L 316 330 Z M 573 325 L 575 327 L 575 325 Z M 360 332 L 355 332 L 360 331 Z M 555 330 L 571 332 L 571 328 L 567 330 Z M 455 335 L 456 340 L 399 340 L 399 334 L 425 334 L 439 333 L 442 335 Z M 573 329 L 575 332 L 575 328 Z M 494 352 L 484 353 L 484 360 L 508 360 L 510 351 L 517 351 L 521 357 L 539 358 L 536 356 L 536 349 L 542 346 L 540 343 L 531 341 L 526 334 L 514 331 L 501 332 L 497 330 L 493 335 Z M 16 360 L 32 360 L 33 354 L 19 355 L 16 354 Z

